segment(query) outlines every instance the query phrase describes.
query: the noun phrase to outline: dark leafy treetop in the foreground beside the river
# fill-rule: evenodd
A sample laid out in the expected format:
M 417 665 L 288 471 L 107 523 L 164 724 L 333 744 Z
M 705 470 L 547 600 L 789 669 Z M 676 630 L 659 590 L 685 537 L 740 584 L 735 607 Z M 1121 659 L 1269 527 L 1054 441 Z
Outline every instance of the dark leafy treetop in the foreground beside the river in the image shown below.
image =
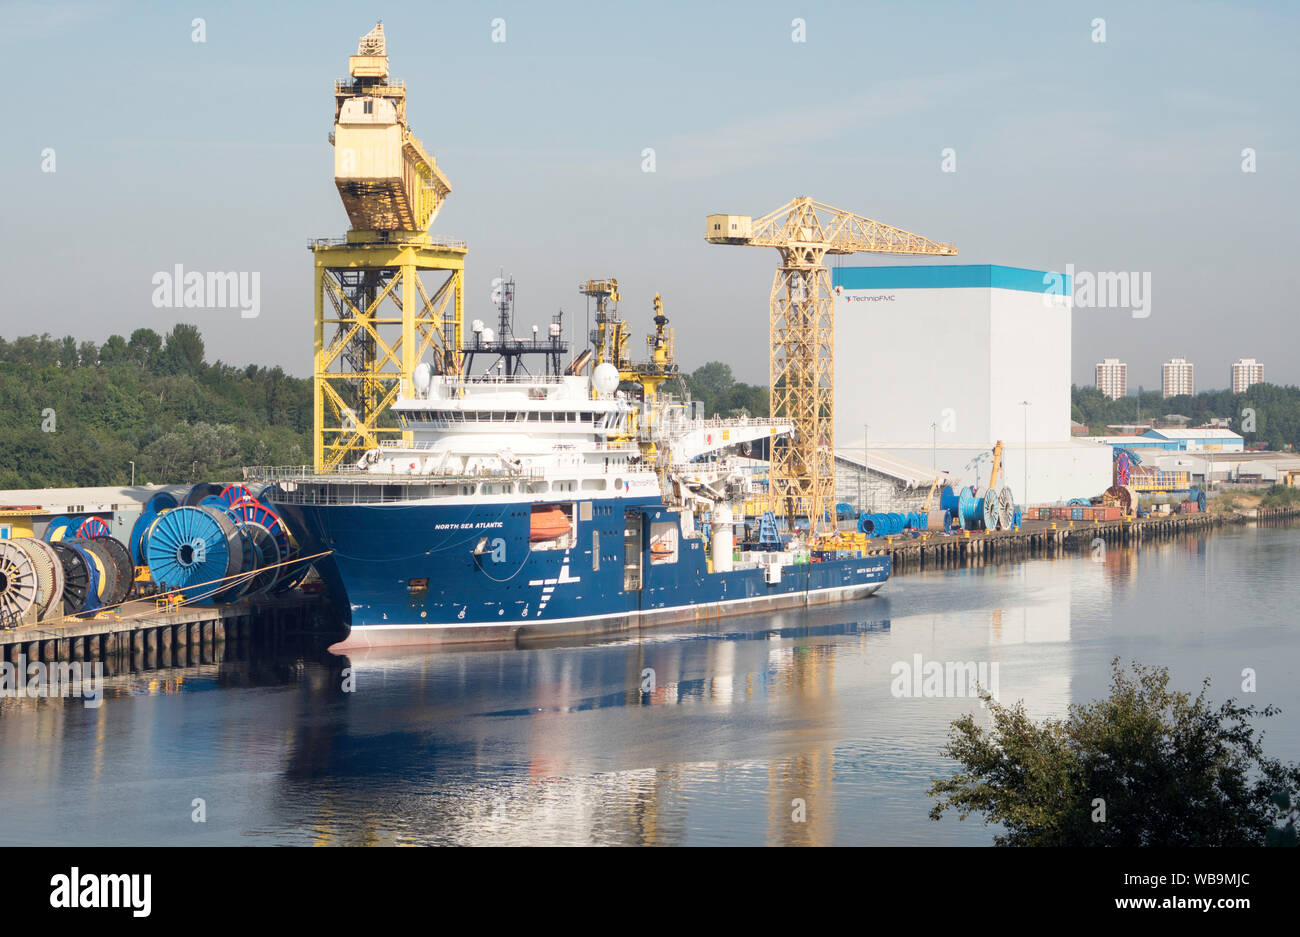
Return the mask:
M 944 754 L 962 769 L 935 780 L 930 811 L 1001 824 L 1000 846 L 1251 846 L 1275 828 L 1300 765 L 1264 755 L 1251 721 L 1274 707 L 1206 702 L 1169 689 L 1166 668 L 1112 661 L 1110 697 L 1034 723 L 1024 703 L 985 695 L 992 726 L 953 723 Z

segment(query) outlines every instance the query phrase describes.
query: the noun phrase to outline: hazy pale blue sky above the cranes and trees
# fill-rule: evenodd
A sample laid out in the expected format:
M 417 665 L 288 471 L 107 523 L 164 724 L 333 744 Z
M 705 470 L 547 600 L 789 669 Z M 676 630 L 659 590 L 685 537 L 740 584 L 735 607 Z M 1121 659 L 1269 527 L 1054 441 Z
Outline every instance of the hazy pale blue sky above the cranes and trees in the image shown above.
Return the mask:
M 659 292 L 684 368 L 766 383 L 777 253 L 705 216 L 811 195 L 950 263 L 1149 276 L 1144 317 L 1075 309 L 1079 383 L 1119 357 L 1158 387 L 1175 355 L 1197 389 L 1242 356 L 1300 383 L 1292 3 L 0 3 L 0 335 L 195 322 L 209 360 L 309 374 L 307 242 L 347 230 L 333 81 L 376 19 L 467 321 L 500 272 L 519 331 L 618 277 L 633 334 Z M 177 264 L 257 273 L 259 314 L 157 308 Z

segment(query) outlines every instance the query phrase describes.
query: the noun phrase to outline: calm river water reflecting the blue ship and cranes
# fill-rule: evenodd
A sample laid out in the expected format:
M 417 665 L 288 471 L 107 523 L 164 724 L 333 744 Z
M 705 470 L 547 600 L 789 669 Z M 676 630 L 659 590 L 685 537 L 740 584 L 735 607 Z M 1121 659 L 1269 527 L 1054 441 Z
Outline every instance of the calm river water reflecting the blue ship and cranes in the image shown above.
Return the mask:
M 1280 706 L 1265 747 L 1300 760 L 1297 580 L 1300 529 L 1232 528 L 616 642 L 313 651 L 112 677 L 99 707 L 3 699 L 0 843 L 987 845 L 978 819 L 927 816 L 974 687 L 906 695 L 902 672 L 983 664 L 1041 717 L 1104 695 L 1114 656 L 1167 665 Z

